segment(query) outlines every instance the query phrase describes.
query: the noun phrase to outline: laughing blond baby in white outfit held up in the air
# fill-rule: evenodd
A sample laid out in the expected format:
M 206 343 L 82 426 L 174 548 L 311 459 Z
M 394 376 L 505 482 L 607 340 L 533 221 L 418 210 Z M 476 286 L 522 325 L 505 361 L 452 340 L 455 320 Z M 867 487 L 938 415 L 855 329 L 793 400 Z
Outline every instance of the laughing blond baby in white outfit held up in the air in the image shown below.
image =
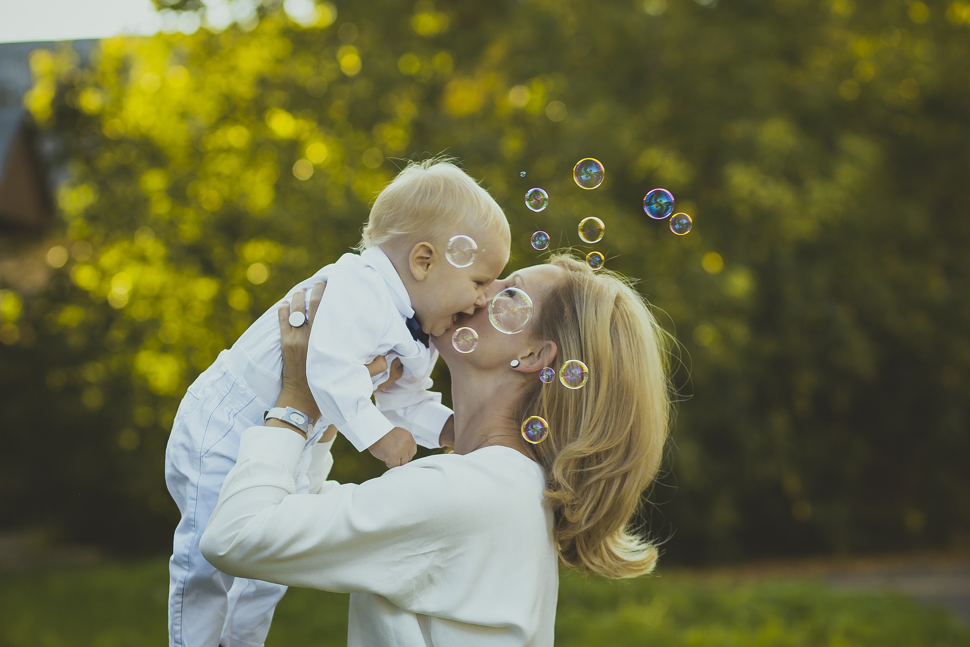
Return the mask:
M 465 245 L 454 251 L 449 242 L 456 236 L 470 240 L 457 239 Z M 486 305 L 485 290 L 508 261 L 509 243 L 501 208 L 465 172 L 436 159 L 412 162 L 377 196 L 360 255 L 344 254 L 286 297 L 327 281 L 307 351 L 319 420 L 291 408 L 271 410 L 282 370 L 276 305 L 192 383 L 165 452 L 165 480 L 181 512 L 169 561 L 170 647 L 260 646 L 286 591 L 226 575 L 199 552 L 242 431 L 269 413 L 306 432 L 311 447 L 333 424 L 388 467 L 409 461 L 416 443 L 439 446 L 452 412 L 428 391 L 437 360 L 429 336 L 448 334 L 459 312 Z M 291 323 L 302 318 L 294 312 Z M 389 369 L 371 375 L 366 365 L 378 356 Z M 372 402 L 394 359 L 401 377 Z M 298 493 L 308 489 L 310 453 L 295 474 Z

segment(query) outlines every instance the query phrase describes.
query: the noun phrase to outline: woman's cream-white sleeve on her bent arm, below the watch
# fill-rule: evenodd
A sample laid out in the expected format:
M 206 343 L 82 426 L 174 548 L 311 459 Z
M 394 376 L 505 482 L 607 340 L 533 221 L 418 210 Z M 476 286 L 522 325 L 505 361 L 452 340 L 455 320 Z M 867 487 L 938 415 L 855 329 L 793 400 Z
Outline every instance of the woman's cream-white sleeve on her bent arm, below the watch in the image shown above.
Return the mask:
M 303 444 L 281 428 L 243 433 L 200 542 L 212 566 L 288 586 L 373 593 L 403 608 L 447 580 L 440 567 L 458 559 L 475 527 L 457 477 L 424 461 L 297 495 Z

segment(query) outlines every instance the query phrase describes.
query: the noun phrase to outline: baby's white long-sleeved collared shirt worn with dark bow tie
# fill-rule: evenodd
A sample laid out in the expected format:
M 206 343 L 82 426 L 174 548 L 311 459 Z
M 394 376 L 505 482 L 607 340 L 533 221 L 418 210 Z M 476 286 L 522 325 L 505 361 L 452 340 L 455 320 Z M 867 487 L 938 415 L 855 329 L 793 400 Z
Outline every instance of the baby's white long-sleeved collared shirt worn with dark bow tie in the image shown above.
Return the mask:
M 414 309 L 391 260 L 379 247 L 359 256 L 344 254 L 295 285 L 287 299 L 299 289 L 308 295 L 321 280 L 327 281 L 327 289 L 307 349 L 307 381 L 321 413 L 316 429 L 335 425 L 358 451 L 394 427 L 404 427 L 420 445 L 438 447 L 441 427 L 452 412 L 441 404 L 440 393 L 428 390 L 437 350 L 415 341 L 407 330 L 405 320 Z M 247 369 L 241 377 L 256 395 L 275 402 L 282 371 L 276 306 L 264 312 L 230 352 L 244 356 Z M 367 370 L 378 355 L 387 355 L 388 366 L 400 358 L 404 374 L 377 392 L 374 404 L 374 386 L 388 376 L 383 372 L 372 378 Z

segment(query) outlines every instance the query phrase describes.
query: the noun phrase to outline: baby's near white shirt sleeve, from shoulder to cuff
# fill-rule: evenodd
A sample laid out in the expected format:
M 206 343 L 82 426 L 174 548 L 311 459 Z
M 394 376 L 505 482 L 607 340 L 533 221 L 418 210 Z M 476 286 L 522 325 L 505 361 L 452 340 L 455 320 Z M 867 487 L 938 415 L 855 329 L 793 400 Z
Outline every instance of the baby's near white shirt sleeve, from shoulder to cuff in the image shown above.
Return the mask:
M 309 334 L 309 390 L 323 419 L 358 451 L 394 428 L 371 402 L 366 366 L 391 347 L 383 340 L 392 323 L 384 292 L 383 285 L 358 272 L 333 271 Z

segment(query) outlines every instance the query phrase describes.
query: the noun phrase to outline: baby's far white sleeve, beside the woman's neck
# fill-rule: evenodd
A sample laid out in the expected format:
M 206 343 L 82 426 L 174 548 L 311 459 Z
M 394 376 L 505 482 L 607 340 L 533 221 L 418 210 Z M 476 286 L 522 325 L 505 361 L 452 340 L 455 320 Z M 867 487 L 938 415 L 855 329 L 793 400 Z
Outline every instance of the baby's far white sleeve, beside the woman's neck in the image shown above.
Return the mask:
M 399 379 L 373 394 L 377 408 L 396 427 L 404 427 L 422 447 L 440 447 L 441 428 L 452 410 L 441 404 L 441 394 L 429 391 L 434 382 L 437 351 L 432 355 L 428 373 L 412 379 Z

